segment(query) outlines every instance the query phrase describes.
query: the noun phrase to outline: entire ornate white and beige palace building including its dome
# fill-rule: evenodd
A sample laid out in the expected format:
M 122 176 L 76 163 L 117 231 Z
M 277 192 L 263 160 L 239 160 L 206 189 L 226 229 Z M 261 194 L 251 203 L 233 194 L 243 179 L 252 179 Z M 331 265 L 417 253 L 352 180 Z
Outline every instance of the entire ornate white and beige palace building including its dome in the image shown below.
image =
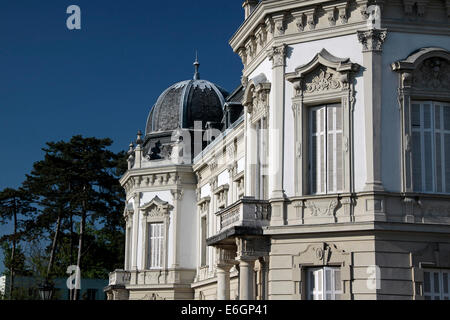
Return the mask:
M 247 0 L 242 85 L 168 88 L 109 299 L 449 299 L 450 1 Z

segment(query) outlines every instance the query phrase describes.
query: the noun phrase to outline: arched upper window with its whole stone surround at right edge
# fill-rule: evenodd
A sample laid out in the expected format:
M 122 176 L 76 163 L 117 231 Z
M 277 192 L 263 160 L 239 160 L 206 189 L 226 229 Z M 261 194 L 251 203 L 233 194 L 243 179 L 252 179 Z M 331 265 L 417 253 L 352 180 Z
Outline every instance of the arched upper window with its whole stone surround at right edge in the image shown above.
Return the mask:
M 404 192 L 450 194 L 450 52 L 422 48 L 399 73 Z

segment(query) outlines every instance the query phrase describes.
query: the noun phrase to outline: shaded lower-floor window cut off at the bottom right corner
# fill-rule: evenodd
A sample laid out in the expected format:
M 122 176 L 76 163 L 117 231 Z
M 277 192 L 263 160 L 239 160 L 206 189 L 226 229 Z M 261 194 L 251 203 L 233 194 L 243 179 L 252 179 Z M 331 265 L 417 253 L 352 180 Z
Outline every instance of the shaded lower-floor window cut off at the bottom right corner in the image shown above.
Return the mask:
M 426 270 L 423 273 L 425 300 L 450 300 L 450 270 Z

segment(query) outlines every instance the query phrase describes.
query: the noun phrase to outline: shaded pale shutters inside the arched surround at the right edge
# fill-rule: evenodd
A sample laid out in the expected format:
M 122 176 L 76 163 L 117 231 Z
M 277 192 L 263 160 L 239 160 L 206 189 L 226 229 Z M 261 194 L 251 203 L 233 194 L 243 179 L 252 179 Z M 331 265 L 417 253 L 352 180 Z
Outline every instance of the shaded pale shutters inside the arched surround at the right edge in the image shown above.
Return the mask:
M 450 193 L 450 103 L 412 102 L 411 131 L 414 191 Z

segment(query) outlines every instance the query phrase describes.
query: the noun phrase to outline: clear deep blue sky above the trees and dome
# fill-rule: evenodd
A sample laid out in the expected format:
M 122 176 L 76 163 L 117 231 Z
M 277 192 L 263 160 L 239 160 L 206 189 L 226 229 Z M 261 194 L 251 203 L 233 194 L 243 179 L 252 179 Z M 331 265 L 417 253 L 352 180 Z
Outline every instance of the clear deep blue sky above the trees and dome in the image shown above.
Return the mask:
M 82 29 L 69 31 L 73 4 Z M 0 189 L 21 184 L 47 141 L 82 134 L 126 149 L 159 94 L 192 77 L 196 50 L 202 78 L 232 91 L 242 64 L 228 40 L 242 23 L 241 4 L 0 1 Z

